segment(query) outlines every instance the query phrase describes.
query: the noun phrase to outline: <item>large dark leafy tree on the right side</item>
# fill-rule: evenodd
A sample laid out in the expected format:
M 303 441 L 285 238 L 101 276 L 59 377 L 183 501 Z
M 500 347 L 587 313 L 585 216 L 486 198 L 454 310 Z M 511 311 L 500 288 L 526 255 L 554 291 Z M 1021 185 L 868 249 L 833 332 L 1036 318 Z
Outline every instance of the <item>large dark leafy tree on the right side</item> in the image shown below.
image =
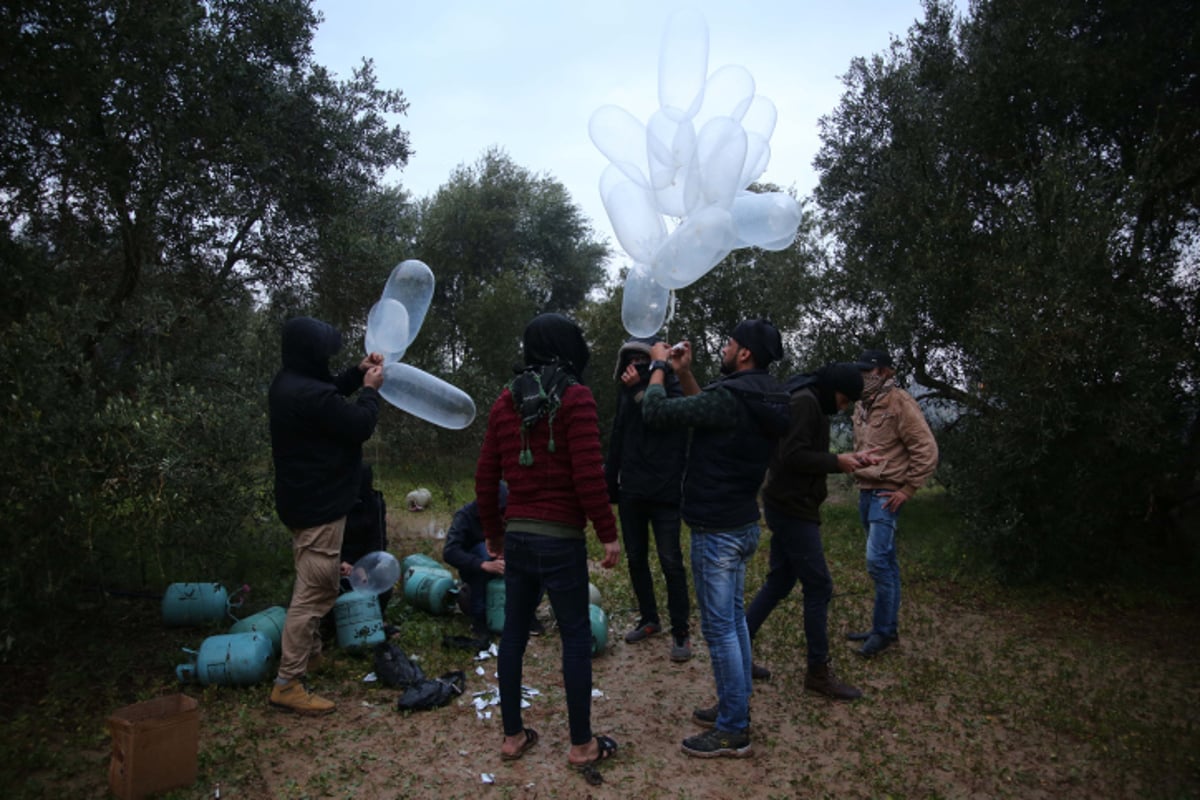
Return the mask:
M 955 405 L 942 476 L 1010 578 L 1188 545 L 1198 28 L 1190 4 L 1142 11 L 995 1 L 956 25 L 929 2 L 823 120 L 841 313 L 818 347 L 888 343 Z

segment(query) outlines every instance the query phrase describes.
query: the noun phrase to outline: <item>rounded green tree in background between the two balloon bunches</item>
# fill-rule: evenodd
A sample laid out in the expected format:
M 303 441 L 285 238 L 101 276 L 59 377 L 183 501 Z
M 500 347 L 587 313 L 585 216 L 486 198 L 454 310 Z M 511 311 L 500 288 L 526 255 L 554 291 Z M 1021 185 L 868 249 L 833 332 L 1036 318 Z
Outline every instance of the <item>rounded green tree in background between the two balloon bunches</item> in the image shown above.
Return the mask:
M 606 249 L 562 184 L 497 149 L 458 167 L 418 219 L 412 257 L 436 265 L 437 287 L 404 361 L 466 391 L 486 417 L 520 362 L 526 324 L 544 312 L 574 315 L 604 278 Z M 408 444 L 432 437 L 438 450 L 478 450 L 482 426 L 472 428 L 414 429 Z

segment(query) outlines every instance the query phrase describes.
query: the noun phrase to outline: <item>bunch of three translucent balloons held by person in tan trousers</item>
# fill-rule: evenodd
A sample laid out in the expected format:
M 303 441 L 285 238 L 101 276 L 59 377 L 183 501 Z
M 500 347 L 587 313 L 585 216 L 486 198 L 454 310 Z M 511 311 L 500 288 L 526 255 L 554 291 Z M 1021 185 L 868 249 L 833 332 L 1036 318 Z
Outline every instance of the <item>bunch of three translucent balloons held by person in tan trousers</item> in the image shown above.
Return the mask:
M 365 347 L 383 355 L 383 398 L 413 416 L 458 431 L 475 419 L 467 392 L 424 369 L 401 363 L 433 300 L 433 271 L 424 261 L 401 261 L 388 276 L 379 302 L 367 313 Z

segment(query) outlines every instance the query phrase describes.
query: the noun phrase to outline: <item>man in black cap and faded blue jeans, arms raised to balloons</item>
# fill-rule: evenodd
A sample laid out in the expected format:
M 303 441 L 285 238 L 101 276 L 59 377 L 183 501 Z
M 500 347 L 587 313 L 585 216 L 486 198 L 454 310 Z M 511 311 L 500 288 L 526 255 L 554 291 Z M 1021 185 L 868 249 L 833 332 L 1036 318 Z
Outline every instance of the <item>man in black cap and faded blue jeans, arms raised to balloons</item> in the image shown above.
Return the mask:
M 692 712 L 695 722 L 710 729 L 683 740 L 688 756 L 752 754 L 745 567 L 758 547 L 758 488 L 788 426 L 790 398 L 767 372 L 782 355 L 773 324 L 744 320 L 721 349 L 721 377 L 701 389 L 691 372 L 690 343 L 672 348 L 658 342 L 650 349 L 650 385 L 642 398 L 647 426 L 692 432 L 680 513 L 691 529 L 700 628 L 716 684 L 716 705 Z M 679 378 L 685 397 L 667 397 L 670 372 Z

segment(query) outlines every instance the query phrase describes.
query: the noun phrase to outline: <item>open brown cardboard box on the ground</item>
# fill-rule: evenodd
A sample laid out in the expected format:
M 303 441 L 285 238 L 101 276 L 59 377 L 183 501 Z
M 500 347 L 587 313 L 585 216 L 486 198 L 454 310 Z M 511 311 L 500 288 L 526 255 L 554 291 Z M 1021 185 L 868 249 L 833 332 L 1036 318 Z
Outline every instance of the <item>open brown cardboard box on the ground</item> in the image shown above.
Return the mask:
M 121 800 L 196 782 L 200 714 L 193 698 L 168 694 L 127 705 L 108 717 L 108 787 Z

